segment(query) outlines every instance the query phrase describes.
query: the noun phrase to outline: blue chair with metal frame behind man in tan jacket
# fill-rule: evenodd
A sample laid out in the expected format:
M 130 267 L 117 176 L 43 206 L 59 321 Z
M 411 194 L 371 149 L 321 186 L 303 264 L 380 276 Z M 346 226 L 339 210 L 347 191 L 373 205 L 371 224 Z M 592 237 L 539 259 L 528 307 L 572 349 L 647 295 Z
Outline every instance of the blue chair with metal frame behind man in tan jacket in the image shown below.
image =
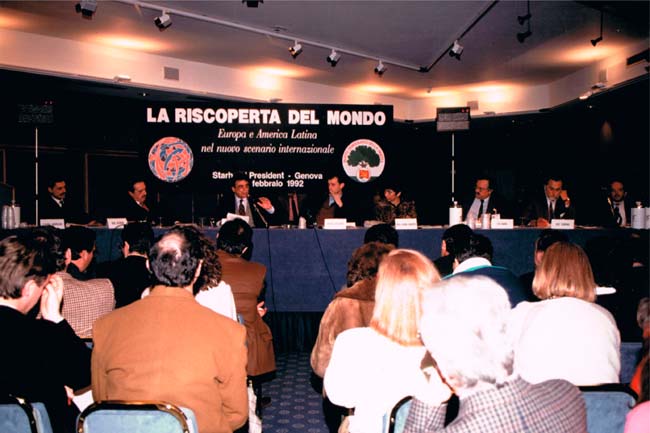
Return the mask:
M 194 412 L 162 401 L 107 400 L 77 418 L 78 433 L 198 433 Z

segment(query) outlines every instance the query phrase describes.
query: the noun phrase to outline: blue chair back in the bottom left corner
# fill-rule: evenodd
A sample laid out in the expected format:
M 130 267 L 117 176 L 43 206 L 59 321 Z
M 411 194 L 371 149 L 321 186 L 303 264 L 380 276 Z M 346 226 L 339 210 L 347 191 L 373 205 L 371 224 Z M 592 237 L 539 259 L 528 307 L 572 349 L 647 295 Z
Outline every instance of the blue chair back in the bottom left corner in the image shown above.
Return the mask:
M 0 431 L 7 433 L 52 433 L 43 403 L 29 403 L 12 395 L 0 398 Z

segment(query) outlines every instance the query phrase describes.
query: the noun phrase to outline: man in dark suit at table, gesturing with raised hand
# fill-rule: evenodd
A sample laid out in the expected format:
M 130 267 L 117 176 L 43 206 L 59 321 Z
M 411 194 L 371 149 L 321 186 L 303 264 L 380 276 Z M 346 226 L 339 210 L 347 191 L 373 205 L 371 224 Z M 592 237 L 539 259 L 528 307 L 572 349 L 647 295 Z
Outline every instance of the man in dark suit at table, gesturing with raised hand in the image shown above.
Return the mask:
M 233 195 L 224 197 L 217 210 L 218 218 L 225 218 L 228 213 L 248 217 L 251 227 L 269 227 L 282 221 L 280 212 L 273 207 L 267 197 L 251 197 L 250 181 L 245 173 L 237 173 L 233 177 L 230 189 Z

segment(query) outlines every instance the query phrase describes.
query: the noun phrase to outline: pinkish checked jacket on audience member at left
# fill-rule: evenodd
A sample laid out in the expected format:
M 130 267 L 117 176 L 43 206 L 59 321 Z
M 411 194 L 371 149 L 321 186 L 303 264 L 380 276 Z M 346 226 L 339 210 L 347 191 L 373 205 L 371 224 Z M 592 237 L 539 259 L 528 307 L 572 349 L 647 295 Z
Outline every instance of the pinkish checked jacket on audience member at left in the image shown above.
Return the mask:
M 113 285 L 105 278 L 80 281 L 67 272 L 58 272 L 63 280 L 61 314 L 81 338 L 92 337 L 95 320 L 113 311 Z

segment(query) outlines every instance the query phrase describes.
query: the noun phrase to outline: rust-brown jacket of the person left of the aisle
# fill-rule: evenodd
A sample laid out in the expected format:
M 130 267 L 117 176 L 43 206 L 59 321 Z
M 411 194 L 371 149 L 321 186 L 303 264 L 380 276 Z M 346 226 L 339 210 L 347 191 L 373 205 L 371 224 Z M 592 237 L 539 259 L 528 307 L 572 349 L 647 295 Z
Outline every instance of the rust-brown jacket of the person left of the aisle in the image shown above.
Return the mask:
M 235 298 L 237 314 L 244 319 L 248 345 L 249 376 L 259 376 L 275 370 L 275 353 L 271 329 L 257 313 L 257 303 L 264 288 L 266 267 L 241 257 L 217 252 L 221 262 L 221 278 L 228 283 Z

